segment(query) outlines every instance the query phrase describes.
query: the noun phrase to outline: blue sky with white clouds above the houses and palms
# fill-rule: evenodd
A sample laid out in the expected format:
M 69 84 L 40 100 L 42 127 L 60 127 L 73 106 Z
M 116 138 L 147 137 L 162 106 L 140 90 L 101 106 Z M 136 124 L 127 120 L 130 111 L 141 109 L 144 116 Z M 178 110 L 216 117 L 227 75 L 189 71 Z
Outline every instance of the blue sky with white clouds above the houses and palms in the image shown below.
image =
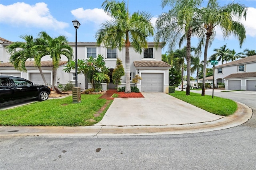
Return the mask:
M 127 3 L 127 0 L 125 0 Z M 78 20 L 80 27 L 78 42 L 96 42 L 95 33 L 100 23 L 110 18 L 101 8 L 104 0 L 1 0 L 0 1 L 0 37 L 10 41 L 23 41 L 20 35 L 33 35 L 46 31 L 50 36 L 65 35 L 69 42 L 75 42 L 75 28 L 72 20 Z M 208 1 L 205 0 L 202 6 Z M 219 0 L 220 5 L 228 4 L 230 0 Z M 246 5 L 248 14 L 246 21 L 240 21 L 246 28 L 246 42 L 240 49 L 235 37 L 223 39 L 222 33 L 216 29 L 216 37 L 208 49 L 208 56 L 213 54 L 214 48 L 227 44 L 227 48 L 235 49 L 236 53 L 244 49 L 256 50 L 256 0 L 235 0 Z M 167 12 L 160 6 L 160 0 L 129 0 L 129 12 L 146 11 L 152 14 L 152 23 L 162 12 Z M 149 42 L 153 37 L 149 37 Z M 192 46 L 197 45 L 197 39 L 192 40 Z M 178 48 L 178 47 L 177 47 Z M 167 48 L 163 49 L 163 53 Z M 201 57 L 203 59 L 203 57 Z

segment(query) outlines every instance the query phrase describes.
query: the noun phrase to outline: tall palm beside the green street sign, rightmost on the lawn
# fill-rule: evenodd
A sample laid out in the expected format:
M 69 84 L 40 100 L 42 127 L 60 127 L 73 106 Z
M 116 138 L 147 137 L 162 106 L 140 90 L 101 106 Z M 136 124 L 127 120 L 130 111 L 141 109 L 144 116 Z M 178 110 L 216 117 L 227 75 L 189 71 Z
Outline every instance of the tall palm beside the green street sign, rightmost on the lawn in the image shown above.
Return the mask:
M 205 76 L 206 76 L 206 64 L 207 64 L 207 51 L 210 37 L 214 33 L 216 26 L 222 29 L 224 37 L 228 37 L 233 34 L 238 38 L 240 47 L 246 39 L 246 31 L 242 23 L 235 21 L 235 19 L 246 18 L 247 8 L 242 4 L 230 3 L 226 6 L 219 6 L 217 0 L 209 0 L 206 8 L 198 10 L 202 17 L 202 23 L 204 23 L 206 41 L 204 48 L 204 70 L 203 70 L 203 85 L 202 96 L 205 94 Z

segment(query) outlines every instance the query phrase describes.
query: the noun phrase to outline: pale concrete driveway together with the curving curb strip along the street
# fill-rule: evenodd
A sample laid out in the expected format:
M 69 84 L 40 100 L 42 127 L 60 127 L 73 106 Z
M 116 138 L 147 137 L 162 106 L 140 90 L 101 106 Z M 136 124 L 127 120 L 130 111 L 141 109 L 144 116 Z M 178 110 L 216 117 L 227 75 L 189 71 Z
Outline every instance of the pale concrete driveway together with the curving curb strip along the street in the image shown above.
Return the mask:
M 103 119 L 88 127 L 0 127 L 0 135 L 104 136 L 167 135 L 227 129 L 245 123 L 252 109 L 238 103 L 224 117 L 165 93 L 142 93 L 144 98 L 115 98 Z

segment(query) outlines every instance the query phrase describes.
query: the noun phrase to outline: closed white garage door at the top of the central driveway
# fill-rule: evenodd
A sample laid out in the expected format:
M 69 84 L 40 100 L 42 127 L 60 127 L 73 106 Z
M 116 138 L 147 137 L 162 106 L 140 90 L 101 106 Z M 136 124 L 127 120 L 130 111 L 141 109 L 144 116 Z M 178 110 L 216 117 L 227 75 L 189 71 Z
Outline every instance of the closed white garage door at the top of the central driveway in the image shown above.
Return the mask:
M 142 73 L 142 92 L 164 92 L 164 73 Z

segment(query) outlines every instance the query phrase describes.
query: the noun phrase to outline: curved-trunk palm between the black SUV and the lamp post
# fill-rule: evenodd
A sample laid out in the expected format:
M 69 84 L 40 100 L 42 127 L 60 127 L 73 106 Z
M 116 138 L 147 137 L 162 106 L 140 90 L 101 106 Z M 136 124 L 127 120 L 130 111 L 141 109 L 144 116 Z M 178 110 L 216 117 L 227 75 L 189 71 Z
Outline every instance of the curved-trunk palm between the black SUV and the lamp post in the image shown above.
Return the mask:
M 63 35 L 52 38 L 46 32 L 41 31 L 37 39 L 40 46 L 38 49 L 38 55 L 42 58 L 49 55 L 52 59 L 52 90 L 54 90 L 56 82 L 57 69 L 61 60 L 61 55 L 67 57 L 68 61 L 73 58 L 73 49 L 68 45 L 67 38 Z

